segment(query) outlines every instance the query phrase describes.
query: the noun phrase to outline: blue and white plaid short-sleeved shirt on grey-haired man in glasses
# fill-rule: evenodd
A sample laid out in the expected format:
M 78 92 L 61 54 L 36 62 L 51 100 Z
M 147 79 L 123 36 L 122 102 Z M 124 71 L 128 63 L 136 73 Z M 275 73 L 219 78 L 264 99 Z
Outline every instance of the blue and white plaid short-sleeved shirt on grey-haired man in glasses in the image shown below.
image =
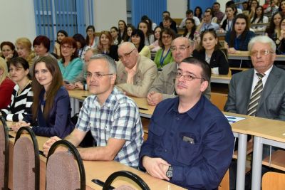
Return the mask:
M 83 102 L 76 128 L 83 132 L 91 130 L 98 147 L 106 146 L 109 138 L 125 139 L 126 142 L 115 161 L 130 167 L 138 167 L 142 145 L 142 122 L 138 107 L 117 88 L 100 106 L 97 97 L 90 95 Z

